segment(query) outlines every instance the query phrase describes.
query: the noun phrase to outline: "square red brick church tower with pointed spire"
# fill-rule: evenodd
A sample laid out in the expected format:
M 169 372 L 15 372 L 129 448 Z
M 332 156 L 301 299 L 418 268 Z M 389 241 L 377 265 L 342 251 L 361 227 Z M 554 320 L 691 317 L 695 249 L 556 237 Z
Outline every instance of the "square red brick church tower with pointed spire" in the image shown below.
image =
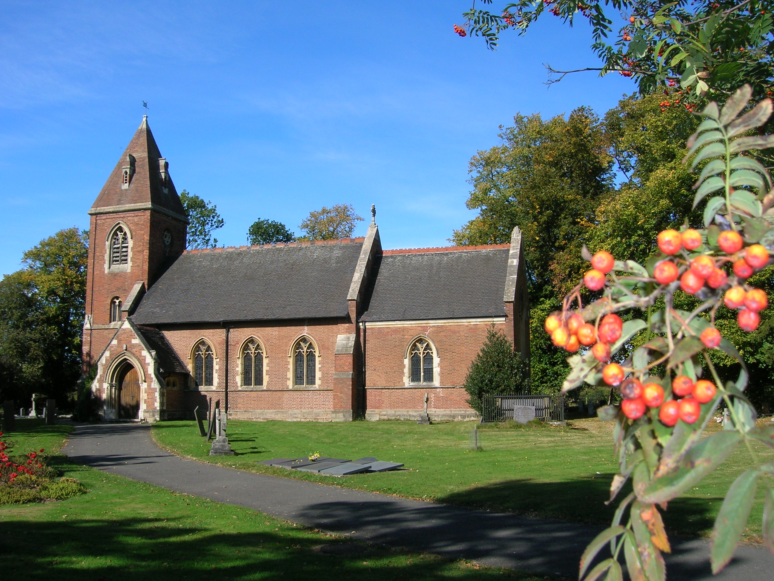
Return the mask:
M 84 372 L 186 247 L 188 218 L 147 115 L 89 215 Z

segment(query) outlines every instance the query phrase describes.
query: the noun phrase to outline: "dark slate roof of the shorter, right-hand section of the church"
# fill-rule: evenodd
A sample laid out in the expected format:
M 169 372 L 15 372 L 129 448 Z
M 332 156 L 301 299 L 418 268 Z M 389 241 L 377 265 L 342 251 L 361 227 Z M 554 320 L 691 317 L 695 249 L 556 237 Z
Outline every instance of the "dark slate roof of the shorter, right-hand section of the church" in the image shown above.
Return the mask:
M 361 321 L 504 316 L 508 247 L 443 250 L 386 251 Z

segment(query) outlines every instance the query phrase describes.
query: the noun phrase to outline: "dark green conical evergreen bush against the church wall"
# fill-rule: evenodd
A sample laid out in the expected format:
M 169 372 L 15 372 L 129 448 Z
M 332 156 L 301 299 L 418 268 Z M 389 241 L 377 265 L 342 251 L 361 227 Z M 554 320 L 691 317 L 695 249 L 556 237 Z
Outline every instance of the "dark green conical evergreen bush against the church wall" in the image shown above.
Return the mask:
M 529 390 L 529 362 L 513 351 L 513 344 L 492 325 L 481 351 L 473 359 L 465 377 L 467 403 L 482 414 L 485 395 L 512 395 Z

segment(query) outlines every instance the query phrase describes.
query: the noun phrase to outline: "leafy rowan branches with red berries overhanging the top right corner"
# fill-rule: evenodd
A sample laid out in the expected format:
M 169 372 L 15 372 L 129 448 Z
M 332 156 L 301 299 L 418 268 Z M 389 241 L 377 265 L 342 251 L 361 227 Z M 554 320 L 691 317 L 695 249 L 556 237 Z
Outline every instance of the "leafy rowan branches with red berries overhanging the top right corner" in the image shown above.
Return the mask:
M 592 49 L 603 64 L 580 70 L 632 77 L 643 95 L 666 89 L 691 111 L 704 95 L 728 95 L 743 82 L 752 84 L 756 99 L 772 88 L 772 0 L 520 0 L 502 5 L 499 13 L 471 8 L 464 13 L 464 27 L 455 25 L 455 31 L 482 36 L 494 49 L 500 33 L 525 34 L 546 11 L 570 26 L 587 19 Z M 617 30 L 616 21 L 621 22 Z M 577 72 L 550 71 L 560 75 L 552 81 Z

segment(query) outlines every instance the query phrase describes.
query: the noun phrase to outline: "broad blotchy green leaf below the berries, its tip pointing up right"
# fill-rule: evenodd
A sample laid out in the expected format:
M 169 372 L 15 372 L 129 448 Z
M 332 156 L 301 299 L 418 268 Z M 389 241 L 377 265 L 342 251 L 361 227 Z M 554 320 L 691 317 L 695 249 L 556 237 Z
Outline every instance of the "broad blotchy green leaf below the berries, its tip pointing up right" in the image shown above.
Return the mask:
M 716 431 L 708 435 L 688 450 L 676 469 L 651 480 L 640 500 L 658 504 L 679 497 L 719 466 L 741 442 L 741 437 L 738 431 Z

